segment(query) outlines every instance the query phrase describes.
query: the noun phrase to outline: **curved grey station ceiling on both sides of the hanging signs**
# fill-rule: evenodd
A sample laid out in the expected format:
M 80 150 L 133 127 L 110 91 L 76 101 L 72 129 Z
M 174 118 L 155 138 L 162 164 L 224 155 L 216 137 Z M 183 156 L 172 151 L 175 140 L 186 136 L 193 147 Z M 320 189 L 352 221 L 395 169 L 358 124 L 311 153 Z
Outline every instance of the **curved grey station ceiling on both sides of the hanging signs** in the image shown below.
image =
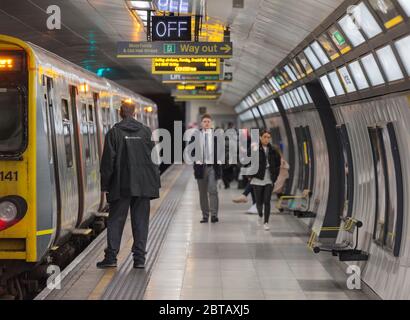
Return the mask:
M 343 0 L 206 0 L 207 15 L 231 26 L 234 81 L 219 103 L 235 106 Z M 58 5 L 62 30 L 46 27 L 47 7 Z M 1 0 L 0 33 L 20 37 L 141 94 L 169 93 L 150 74 L 150 61 L 117 59 L 118 41 L 145 41 L 124 0 Z

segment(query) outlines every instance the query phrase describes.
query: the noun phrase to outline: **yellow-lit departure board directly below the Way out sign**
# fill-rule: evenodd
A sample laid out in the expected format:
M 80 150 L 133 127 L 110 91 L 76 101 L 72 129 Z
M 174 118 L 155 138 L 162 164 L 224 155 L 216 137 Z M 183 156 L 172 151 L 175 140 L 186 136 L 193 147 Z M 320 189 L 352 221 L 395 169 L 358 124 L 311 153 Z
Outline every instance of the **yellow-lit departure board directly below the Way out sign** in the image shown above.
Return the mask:
M 155 58 L 153 74 L 216 74 L 220 73 L 218 58 Z

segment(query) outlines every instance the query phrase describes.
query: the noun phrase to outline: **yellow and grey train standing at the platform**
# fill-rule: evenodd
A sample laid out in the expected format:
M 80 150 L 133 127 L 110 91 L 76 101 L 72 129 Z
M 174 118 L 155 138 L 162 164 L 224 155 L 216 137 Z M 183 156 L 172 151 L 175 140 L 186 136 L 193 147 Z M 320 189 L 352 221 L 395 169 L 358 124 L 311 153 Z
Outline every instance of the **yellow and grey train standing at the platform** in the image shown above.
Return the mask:
M 16 276 L 87 234 L 105 207 L 99 162 L 124 100 L 158 127 L 151 100 L 0 35 L 0 296 L 16 287 L 21 295 Z

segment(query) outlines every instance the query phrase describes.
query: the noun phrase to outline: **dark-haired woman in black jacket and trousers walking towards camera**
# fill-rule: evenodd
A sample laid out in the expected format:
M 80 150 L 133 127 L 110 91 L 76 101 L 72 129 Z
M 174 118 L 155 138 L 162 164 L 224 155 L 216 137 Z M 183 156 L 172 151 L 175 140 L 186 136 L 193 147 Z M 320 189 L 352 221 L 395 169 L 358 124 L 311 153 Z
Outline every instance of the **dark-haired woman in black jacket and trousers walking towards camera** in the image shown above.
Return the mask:
M 251 180 L 251 185 L 255 192 L 259 222 L 262 224 L 263 219 L 266 231 L 270 229 L 269 217 L 271 213 L 272 191 L 279 176 L 281 166 L 280 153 L 271 145 L 271 138 L 272 136 L 268 130 L 261 131 L 258 172 Z

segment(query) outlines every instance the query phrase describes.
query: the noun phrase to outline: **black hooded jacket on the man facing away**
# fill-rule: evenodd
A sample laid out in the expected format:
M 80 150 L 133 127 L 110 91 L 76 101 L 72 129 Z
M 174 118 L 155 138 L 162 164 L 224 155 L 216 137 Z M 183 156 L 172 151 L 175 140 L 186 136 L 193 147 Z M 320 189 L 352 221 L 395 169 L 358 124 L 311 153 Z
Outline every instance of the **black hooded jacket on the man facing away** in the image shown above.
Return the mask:
M 101 160 L 101 191 L 107 201 L 122 197 L 159 198 L 158 165 L 151 159 L 154 142 L 151 130 L 128 117 L 106 135 Z

